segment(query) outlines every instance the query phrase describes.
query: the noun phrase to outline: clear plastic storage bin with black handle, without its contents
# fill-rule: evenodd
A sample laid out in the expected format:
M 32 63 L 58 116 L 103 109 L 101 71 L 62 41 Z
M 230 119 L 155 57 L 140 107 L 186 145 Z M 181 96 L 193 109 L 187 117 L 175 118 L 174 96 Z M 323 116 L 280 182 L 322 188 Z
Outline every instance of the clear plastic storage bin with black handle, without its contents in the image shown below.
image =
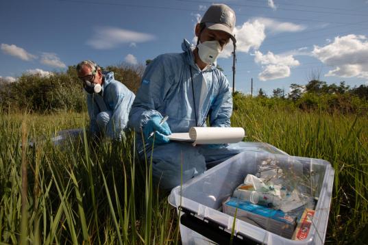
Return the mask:
M 223 201 L 245 176 L 255 175 L 265 160 L 298 166 L 308 177 L 306 192 L 318 199 L 308 237 L 290 240 L 260 227 L 235 220 L 233 244 L 323 244 L 330 212 L 334 169 L 321 159 L 246 151 L 171 190 L 169 203 L 180 210 L 182 244 L 229 244 L 234 218 L 221 211 Z M 301 167 L 301 168 L 300 168 Z

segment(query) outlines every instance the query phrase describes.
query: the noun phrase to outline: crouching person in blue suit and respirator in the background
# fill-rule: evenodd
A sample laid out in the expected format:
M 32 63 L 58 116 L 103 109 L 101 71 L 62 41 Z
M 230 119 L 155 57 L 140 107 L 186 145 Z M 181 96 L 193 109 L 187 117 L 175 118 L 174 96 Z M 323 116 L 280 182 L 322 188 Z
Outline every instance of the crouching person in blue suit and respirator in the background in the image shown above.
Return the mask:
M 87 92 L 90 133 L 122 140 L 134 93 L 116 81 L 114 73 L 102 72 L 93 61 L 84 60 L 77 64 L 77 73 Z

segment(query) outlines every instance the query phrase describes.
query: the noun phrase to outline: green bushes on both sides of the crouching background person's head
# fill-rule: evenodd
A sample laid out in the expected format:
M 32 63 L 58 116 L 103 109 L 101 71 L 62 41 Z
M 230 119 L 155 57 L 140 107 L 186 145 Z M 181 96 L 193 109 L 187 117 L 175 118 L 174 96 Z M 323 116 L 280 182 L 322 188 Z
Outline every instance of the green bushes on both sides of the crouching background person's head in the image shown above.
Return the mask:
M 114 72 L 134 93 L 140 86 L 143 66 L 108 66 L 104 70 Z M 0 109 L 3 111 L 27 109 L 30 112 L 49 113 L 60 111 L 86 111 L 86 94 L 77 77 L 75 66 L 69 66 L 64 73 L 53 73 L 48 77 L 23 74 L 13 83 L 0 86 Z

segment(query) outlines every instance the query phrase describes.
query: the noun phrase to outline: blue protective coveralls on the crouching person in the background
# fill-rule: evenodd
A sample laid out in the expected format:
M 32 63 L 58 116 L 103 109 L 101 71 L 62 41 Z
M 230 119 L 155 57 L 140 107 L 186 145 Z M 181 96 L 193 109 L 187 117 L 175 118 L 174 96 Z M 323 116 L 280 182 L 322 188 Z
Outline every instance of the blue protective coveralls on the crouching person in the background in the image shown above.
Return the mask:
M 114 140 L 125 137 L 124 129 L 135 95 L 120 81 L 114 79 L 114 73 L 103 72 L 103 85 L 100 94 L 87 94 L 90 133 L 101 133 Z

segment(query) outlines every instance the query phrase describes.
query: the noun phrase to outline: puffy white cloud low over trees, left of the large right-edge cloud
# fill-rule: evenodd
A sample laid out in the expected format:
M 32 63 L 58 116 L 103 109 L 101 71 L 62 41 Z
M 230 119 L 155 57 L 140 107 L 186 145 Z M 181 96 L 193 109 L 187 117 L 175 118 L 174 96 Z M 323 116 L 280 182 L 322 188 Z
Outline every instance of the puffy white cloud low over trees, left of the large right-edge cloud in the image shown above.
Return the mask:
M 299 66 L 299 61 L 293 55 L 275 55 L 272 52 L 263 55 L 260 51 L 255 51 L 254 56 L 254 61 L 263 68 L 262 73 L 258 74 L 261 81 L 289 77 L 290 68 Z

